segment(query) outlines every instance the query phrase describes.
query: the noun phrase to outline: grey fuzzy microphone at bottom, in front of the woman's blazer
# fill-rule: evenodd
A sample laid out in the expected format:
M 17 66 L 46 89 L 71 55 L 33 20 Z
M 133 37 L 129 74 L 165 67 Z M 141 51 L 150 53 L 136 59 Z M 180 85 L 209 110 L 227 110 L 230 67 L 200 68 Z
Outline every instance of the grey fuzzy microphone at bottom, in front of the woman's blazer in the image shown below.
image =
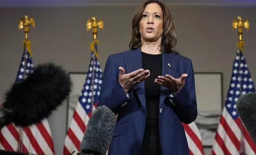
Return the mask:
M 80 155 L 106 155 L 115 125 L 116 115 L 107 106 L 95 108 L 86 126 Z

